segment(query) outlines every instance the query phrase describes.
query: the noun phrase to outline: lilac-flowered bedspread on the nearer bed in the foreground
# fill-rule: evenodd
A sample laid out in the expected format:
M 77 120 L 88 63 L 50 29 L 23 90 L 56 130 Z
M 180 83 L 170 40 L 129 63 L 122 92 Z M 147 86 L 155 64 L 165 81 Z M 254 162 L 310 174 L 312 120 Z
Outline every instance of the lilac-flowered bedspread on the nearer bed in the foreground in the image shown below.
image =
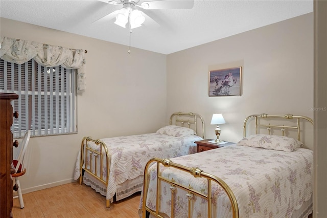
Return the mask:
M 312 195 L 313 152 L 296 148 L 293 152 L 238 145 L 208 150 L 172 159 L 188 167 L 199 167 L 223 179 L 235 194 L 240 217 L 291 217 Z M 203 178 L 171 167 L 160 167 L 162 176 L 207 193 Z M 147 206 L 156 206 L 156 164 L 149 168 Z M 227 195 L 213 187 L 213 217 L 232 217 Z M 186 192 L 174 195 L 174 217 L 188 217 Z M 139 204 L 142 214 L 143 193 Z M 161 182 L 160 212 L 171 214 L 171 191 Z M 193 198 L 192 217 L 208 217 L 206 202 Z

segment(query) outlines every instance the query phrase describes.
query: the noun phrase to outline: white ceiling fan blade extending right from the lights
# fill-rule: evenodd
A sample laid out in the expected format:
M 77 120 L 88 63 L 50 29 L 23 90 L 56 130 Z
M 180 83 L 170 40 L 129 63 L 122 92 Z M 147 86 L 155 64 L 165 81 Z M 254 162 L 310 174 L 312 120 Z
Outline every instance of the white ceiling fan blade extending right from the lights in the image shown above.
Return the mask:
M 152 9 L 191 9 L 194 0 L 157 0 L 143 2 L 141 7 L 146 10 Z

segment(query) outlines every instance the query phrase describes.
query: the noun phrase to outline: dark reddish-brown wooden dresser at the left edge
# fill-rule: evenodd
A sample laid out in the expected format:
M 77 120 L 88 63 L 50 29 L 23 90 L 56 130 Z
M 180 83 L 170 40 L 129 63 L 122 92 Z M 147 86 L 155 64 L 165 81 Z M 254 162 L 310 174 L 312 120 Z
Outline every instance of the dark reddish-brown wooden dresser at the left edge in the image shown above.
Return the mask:
M 11 125 L 13 117 L 17 118 L 18 113 L 13 113 L 11 101 L 18 99 L 18 95 L 0 93 L 0 217 L 11 217 L 13 206 L 13 182 L 10 177 L 15 170 L 11 167 L 13 155 L 13 135 Z

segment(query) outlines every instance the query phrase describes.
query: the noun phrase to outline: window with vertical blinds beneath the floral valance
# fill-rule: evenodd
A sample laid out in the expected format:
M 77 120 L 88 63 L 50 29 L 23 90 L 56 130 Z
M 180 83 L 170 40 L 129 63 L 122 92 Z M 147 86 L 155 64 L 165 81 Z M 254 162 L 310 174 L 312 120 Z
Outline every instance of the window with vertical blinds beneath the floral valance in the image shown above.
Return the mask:
M 0 92 L 15 93 L 12 132 L 23 137 L 77 133 L 76 70 L 46 68 L 34 59 L 16 64 L 0 59 Z

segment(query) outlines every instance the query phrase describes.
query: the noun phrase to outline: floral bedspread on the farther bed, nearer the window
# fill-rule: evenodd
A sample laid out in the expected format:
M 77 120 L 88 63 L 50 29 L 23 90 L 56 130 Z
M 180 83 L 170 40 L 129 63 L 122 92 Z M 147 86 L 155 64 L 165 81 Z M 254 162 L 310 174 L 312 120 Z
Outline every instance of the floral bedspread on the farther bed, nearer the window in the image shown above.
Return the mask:
M 106 194 L 107 200 L 109 200 L 116 193 L 116 185 L 122 184 L 126 180 L 132 180 L 139 175 L 144 175 L 145 165 L 151 158 L 173 158 L 193 154 L 196 152 L 196 144 L 194 142 L 202 140 L 202 138 L 196 135 L 174 137 L 151 133 L 101 140 L 107 145 L 109 154 L 111 154 L 109 185 Z M 99 147 L 92 142 L 88 142 L 88 146 L 92 148 Z M 100 165 L 99 160 L 98 165 Z M 89 168 L 89 163 L 86 163 L 86 167 Z M 100 171 L 101 168 L 99 166 L 98 176 L 100 176 Z M 104 179 L 107 176 L 106 171 L 106 168 L 102 169 Z M 80 152 L 76 160 L 74 179 L 77 180 L 79 176 Z M 117 197 L 117 200 L 120 200 L 119 197 Z

